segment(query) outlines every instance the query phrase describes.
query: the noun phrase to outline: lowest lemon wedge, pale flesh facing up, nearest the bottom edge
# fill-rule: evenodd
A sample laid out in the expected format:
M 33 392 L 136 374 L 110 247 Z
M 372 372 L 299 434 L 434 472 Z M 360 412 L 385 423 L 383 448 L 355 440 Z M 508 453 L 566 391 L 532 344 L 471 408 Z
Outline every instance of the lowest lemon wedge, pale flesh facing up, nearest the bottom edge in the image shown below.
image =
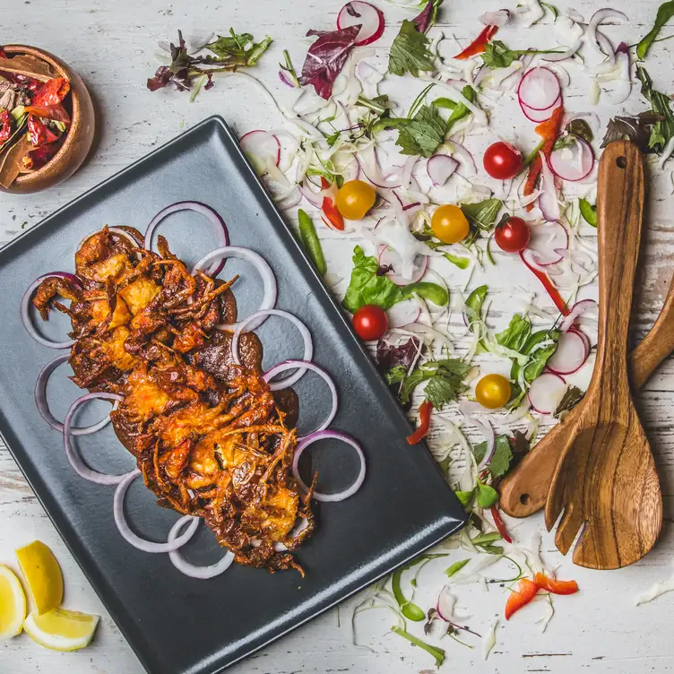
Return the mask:
M 33 641 L 52 651 L 78 651 L 91 643 L 99 616 L 67 609 L 54 609 L 37 616 L 30 613 L 23 629 Z

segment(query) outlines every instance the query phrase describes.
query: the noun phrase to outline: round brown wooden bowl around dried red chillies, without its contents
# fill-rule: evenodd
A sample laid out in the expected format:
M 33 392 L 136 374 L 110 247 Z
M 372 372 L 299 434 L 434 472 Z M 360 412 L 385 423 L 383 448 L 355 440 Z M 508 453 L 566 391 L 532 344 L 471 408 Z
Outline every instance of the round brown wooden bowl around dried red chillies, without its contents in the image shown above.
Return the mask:
M 73 101 L 72 122 L 59 151 L 42 168 L 17 177 L 9 188 L 0 186 L 0 192 L 13 194 L 39 192 L 63 182 L 82 166 L 93 143 L 95 128 L 93 104 L 80 75 L 60 58 L 43 49 L 27 45 L 5 45 L 4 51 L 8 56 L 13 54 L 37 56 L 51 65 L 60 77 L 65 77 L 70 82 Z

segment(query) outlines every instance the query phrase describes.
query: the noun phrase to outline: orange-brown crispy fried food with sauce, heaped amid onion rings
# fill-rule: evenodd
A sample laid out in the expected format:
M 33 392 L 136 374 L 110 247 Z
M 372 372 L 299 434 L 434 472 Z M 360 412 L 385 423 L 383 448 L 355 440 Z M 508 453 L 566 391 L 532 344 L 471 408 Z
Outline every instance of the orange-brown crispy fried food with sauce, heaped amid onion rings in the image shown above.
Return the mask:
M 292 551 L 315 516 L 313 485 L 302 495 L 291 472 L 298 398 L 270 391 L 255 333 L 232 359 L 221 326 L 237 320 L 236 277 L 193 276 L 165 238 L 154 253 L 121 229 L 128 237 L 105 228 L 80 246 L 82 287 L 48 278 L 33 299 L 43 319 L 56 308 L 72 321 L 73 382 L 124 396 L 113 426 L 161 506 L 202 517 L 239 564 L 303 573 Z

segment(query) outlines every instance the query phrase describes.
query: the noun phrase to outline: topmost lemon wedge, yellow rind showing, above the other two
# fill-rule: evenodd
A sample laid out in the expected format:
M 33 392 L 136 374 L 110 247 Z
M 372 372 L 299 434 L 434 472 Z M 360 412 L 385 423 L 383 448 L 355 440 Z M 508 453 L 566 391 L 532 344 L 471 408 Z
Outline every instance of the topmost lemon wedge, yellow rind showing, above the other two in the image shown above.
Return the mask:
M 63 601 L 63 575 L 54 553 L 41 540 L 16 551 L 35 612 L 41 616 Z

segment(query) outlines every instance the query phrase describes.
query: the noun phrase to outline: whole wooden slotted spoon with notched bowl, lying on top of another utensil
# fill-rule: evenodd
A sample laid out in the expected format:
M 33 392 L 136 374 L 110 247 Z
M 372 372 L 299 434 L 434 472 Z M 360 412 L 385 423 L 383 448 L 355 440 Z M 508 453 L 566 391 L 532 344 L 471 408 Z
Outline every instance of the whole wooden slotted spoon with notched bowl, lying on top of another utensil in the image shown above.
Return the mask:
M 644 212 L 644 165 L 633 143 L 610 143 L 598 186 L 599 342 L 592 381 L 559 458 L 545 506 L 548 531 L 574 562 L 633 564 L 661 530 L 662 497 L 651 447 L 627 377 L 627 333 Z M 584 525 L 584 526 L 583 526 Z

